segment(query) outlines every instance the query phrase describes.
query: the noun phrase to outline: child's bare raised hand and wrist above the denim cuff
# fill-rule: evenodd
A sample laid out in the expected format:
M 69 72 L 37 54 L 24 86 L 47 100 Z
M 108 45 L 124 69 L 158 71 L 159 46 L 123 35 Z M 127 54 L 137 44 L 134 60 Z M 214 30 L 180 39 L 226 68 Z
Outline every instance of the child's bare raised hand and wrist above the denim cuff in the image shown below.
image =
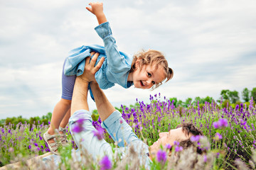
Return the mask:
M 103 3 L 102 2 L 90 2 L 90 7 L 86 7 L 88 11 L 95 14 L 97 21 L 100 24 L 107 22 L 107 18 L 103 12 Z

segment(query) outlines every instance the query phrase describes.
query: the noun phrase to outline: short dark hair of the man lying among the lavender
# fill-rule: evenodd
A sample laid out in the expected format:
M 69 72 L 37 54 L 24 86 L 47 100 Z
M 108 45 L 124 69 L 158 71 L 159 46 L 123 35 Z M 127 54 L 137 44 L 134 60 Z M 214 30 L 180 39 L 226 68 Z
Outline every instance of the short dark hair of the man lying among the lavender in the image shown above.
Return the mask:
M 203 132 L 199 130 L 195 125 L 193 125 L 193 123 L 183 123 L 181 125 L 181 128 L 186 136 L 189 136 L 190 134 L 193 136 L 196 136 L 196 135 L 203 136 Z M 179 143 L 180 143 L 179 146 L 183 147 L 183 149 L 187 149 L 188 147 L 196 147 L 190 138 L 188 140 L 179 141 Z M 198 147 L 196 147 L 196 152 L 198 154 L 203 153 L 203 151 Z

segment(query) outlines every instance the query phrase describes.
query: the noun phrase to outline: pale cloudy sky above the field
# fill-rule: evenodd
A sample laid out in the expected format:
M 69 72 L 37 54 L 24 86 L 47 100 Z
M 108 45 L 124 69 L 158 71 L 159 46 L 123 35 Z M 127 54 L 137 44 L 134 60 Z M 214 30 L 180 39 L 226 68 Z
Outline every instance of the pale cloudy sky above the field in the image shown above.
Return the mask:
M 68 52 L 100 44 L 97 20 L 82 0 L 0 0 L 0 119 L 52 112 L 60 100 Z M 220 97 L 222 89 L 256 87 L 255 0 L 105 0 L 119 50 L 164 52 L 174 78 L 154 91 L 115 86 L 119 107 L 150 94 Z M 95 103 L 90 100 L 90 109 Z

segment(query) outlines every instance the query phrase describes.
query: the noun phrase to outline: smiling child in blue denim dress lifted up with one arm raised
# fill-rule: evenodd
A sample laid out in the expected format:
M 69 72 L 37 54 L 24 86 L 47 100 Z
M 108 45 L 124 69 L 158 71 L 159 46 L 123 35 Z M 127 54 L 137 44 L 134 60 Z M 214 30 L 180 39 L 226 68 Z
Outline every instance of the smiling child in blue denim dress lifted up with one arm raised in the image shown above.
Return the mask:
M 142 51 L 133 57 L 124 52 L 119 52 L 112 35 L 110 23 L 107 22 L 103 12 L 103 4 L 95 2 L 89 5 L 91 7 L 86 8 L 97 17 L 99 26 L 95 30 L 102 38 L 104 47 L 100 45 L 78 47 L 71 50 L 70 55 L 65 59 L 62 75 L 62 96 L 53 110 L 50 128 L 43 134 L 43 139 L 54 154 L 58 154 L 57 149 L 60 145 L 56 140 L 57 137 L 60 138 L 61 145 L 68 145 L 65 127 L 70 118 L 70 105 L 75 77 L 84 72 L 86 57 L 91 57 L 91 55 L 95 54 L 99 55 L 97 62 L 105 59 L 102 67 L 95 74 L 95 79 L 101 89 L 109 89 L 114 84 L 119 84 L 125 89 L 132 85 L 139 89 L 155 89 L 165 79 L 169 81 L 174 74 L 173 70 L 168 67 L 168 62 L 164 55 L 159 51 Z M 91 91 L 90 94 L 92 96 Z M 58 130 L 58 134 L 55 133 L 55 130 Z

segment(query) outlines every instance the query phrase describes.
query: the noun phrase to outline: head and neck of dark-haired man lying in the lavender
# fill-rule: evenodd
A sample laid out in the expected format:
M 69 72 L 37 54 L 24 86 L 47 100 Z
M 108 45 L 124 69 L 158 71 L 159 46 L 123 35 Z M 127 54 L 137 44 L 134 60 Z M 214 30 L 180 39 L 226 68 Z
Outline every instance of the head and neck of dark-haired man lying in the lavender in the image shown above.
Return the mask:
M 193 142 L 191 142 L 190 138 L 196 135 L 203 135 L 203 132 L 198 130 L 192 123 L 183 123 L 181 128 L 169 130 L 169 132 L 160 132 L 159 140 L 149 147 L 151 157 L 155 157 L 161 146 L 165 147 L 168 144 L 173 146 L 174 141 L 179 142 L 179 146 L 183 147 L 183 149 L 191 147 Z

